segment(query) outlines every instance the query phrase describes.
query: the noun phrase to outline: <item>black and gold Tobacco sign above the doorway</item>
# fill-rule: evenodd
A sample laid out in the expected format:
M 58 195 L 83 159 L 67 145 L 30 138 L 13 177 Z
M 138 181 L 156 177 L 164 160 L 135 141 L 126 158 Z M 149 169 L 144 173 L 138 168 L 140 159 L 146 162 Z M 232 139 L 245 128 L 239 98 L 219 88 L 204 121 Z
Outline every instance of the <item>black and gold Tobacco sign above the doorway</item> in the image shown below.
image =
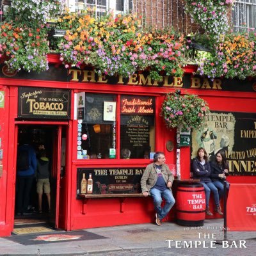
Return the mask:
M 19 87 L 19 118 L 70 118 L 70 90 Z

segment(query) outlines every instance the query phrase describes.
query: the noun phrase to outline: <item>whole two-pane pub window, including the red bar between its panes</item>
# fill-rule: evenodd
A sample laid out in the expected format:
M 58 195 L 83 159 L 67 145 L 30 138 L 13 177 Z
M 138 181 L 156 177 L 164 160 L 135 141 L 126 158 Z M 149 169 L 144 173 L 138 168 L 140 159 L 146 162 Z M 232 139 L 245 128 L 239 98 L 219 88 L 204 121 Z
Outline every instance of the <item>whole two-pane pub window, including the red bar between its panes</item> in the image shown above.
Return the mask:
M 150 158 L 155 150 L 154 97 L 80 92 L 76 102 L 77 159 Z

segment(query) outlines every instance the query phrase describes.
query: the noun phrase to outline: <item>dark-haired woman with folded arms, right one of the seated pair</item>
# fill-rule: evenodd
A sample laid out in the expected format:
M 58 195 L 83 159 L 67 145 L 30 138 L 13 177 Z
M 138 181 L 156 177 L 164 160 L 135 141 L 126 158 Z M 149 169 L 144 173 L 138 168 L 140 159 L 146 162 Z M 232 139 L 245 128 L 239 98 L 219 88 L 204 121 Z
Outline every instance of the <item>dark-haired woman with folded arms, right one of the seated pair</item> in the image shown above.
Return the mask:
M 228 163 L 224 151 L 218 152 L 214 159 L 210 162 L 211 165 L 211 180 L 212 183 L 219 189 L 220 198 L 224 194 L 224 180 L 228 175 Z M 227 189 L 229 189 L 229 183 L 227 182 Z

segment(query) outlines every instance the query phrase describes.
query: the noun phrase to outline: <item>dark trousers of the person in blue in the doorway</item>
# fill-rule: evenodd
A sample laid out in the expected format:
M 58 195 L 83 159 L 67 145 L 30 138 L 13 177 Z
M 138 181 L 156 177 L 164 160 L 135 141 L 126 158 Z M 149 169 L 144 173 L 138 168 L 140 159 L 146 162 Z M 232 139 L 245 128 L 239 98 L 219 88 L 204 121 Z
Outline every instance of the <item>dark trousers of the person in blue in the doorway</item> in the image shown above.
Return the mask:
M 28 211 L 31 187 L 34 175 L 17 176 L 17 212 L 23 213 Z

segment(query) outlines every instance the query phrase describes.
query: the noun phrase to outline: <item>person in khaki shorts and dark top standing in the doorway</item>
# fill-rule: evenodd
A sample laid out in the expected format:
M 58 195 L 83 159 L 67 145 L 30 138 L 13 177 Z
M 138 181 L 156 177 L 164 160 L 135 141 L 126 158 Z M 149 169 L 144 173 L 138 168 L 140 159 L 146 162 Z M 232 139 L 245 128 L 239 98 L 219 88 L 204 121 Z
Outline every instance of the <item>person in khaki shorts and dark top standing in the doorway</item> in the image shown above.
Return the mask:
M 50 186 L 50 163 L 46 151 L 40 152 L 36 169 L 36 193 L 38 194 L 38 212 L 42 213 L 43 192 L 47 197 L 48 210 L 51 211 L 51 186 Z

